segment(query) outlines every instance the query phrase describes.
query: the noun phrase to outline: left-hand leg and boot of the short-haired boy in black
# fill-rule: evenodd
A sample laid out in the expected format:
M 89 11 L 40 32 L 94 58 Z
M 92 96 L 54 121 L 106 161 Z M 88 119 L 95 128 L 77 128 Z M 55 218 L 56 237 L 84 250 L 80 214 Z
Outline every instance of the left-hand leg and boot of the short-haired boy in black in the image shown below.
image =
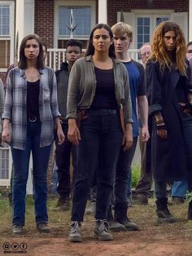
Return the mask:
M 56 205 L 58 210 L 68 210 L 69 207 L 69 195 L 71 192 L 70 181 L 70 157 L 72 143 L 68 141 L 68 125 L 62 125 L 63 133 L 65 135 L 65 141 L 61 145 L 58 143 L 58 139 L 55 139 L 55 161 L 58 166 L 58 188 L 59 201 Z M 65 205 L 66 204 L 66 205 Z M 67 207 L 65 209 L 65 206 Z

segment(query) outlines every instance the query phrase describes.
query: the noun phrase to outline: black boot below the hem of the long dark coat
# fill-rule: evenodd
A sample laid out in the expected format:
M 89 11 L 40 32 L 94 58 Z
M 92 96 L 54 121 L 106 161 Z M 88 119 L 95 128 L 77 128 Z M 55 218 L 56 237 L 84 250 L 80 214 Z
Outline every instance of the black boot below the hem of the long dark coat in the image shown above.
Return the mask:
M 158 216 L 159 223 L 175 223 L 176 218 L 170 214 L 168 210 L 168 198 L 167 197 L 159 197 L 156 201 L 156 214 Z

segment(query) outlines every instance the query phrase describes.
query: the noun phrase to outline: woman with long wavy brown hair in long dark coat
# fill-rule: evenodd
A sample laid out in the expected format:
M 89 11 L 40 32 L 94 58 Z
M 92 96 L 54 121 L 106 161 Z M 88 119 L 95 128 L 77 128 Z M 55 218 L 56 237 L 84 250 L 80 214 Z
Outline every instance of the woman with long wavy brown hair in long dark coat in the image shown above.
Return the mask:
M 192 191 L 192 86 L 185 62 L 185 38 L 174 22 L 155 30 L 152 55 L 146 64 L 146 84 L 152 125 L 152 171 L 155 179 L 157 216 L 172 223 L 166 183 L 188 175 Z M 188 218 L 192 219 L 192 203 Z

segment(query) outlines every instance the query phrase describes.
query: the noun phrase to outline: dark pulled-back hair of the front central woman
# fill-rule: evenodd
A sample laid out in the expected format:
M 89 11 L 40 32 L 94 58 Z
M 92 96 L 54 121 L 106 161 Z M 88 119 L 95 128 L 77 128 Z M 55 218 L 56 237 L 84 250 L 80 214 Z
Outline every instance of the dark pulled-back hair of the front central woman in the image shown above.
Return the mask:
M 93 38 L 94 38 L 94 31 L 96 29 L 106 29 L 109 33 L 110 38 L 113 38 L 113 33 L 111 31 L 111 28 L 107 24 L 99 23 L 97 24 L 94 29 L 91 30 L 90 36 L 89 36 L 89 42 L 87 49 L 85 51 L 85 56 L 87 55 L 94 55 L 94 46 L 93 46 Z M 111 46 L 109 47 L 109 56 L 111 58 L 116 58 L 116 53 L 115 53 L 115 46 L 112 43 Z

